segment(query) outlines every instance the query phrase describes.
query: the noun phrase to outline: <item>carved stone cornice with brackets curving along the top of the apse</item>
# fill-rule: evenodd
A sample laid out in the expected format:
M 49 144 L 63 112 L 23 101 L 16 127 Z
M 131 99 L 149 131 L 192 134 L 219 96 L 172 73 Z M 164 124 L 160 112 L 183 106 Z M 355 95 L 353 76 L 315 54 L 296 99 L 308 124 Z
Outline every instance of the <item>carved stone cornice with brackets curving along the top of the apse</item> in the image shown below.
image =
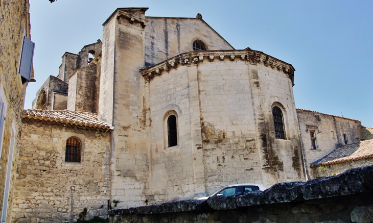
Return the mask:
M 274 57 L 264 54 L 260 51 L 252 51 L 251 49 L 244 50 L 228 50 L 228 51 L 193 51 L 180 54 L 166 61 L 148 67 L 141 71 L 141 75 L 145 81 L 150 81 L 154 76 L 161 75 L 162 72 L 167 72 L 170 69 L 178 66 L 190 66 L 203 61 L 248 61 L 250 64 L 262 64 L 269 66 L 272 69 L 277 69 L 286 74 L 294 85 L 294 67 L 291 64 L 278 60 Z

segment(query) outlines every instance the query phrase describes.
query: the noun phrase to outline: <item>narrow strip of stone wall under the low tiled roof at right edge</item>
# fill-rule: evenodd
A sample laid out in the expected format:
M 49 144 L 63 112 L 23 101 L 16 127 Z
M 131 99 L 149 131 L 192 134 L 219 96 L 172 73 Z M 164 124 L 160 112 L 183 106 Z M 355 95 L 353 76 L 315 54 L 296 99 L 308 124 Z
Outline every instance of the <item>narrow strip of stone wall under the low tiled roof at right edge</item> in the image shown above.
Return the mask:
M 320 177 L 327 177 L 327 176 L 333 176 L 341 174 L 342 172 L 356 168 L 356 167 L 362 167 L 362 166 L 368 166 L 373 164 L 373 157 L 361 159 L 361 160 L 353 160 L 348 162 L 342 162 L 342 163 L 335 163 L 330 165 L 324 165 L 322 167 L 325 167 L 325 169 L 320 169 L 319 166 L 311 166 L 310 168 L 310 174 L 312 178 L 320 178 Z

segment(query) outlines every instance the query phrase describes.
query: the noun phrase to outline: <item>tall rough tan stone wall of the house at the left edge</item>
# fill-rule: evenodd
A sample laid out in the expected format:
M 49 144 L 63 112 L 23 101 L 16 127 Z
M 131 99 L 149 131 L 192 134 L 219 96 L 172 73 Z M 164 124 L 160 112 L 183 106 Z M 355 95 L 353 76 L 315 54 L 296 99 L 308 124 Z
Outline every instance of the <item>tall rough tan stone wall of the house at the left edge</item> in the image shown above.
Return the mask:
M 7 213 L 1 213 L 6 222 L 10 222 L 12 199 L 14 196 L 15 171 L 18 165 L 19 137 L 22 121 L 22 110 L 27 82 L 22 84 L 18 67 L 24 36 L 30 36 L 29 1 L 9 0 L 0 2 L 0 85 L 2 100 L 8 104 L 4 135 L 0 143 L 0 212 L 3 210 L 4 189 L 9 172 L 9 198 Z M 33 78 L 33 71 L 32 71 Z M 11 143 L 14 142 L 13 146 Z M 12 147 L 14 148 L 13 153 Z M 9 160 L 9 157 L 12 157 Z M 11 168 L 11 169 L 9 169 Z

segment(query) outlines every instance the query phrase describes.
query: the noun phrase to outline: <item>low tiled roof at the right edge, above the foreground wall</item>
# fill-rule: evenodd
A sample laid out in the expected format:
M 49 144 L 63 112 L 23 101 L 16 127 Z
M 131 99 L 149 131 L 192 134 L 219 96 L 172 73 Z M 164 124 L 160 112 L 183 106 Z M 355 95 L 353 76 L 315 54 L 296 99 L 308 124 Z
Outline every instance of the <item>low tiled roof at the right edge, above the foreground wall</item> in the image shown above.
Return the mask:
M 321 159 L 311 163 L 311 167 L 362 160 L 373 157 L 373 139 L 342 145 Z

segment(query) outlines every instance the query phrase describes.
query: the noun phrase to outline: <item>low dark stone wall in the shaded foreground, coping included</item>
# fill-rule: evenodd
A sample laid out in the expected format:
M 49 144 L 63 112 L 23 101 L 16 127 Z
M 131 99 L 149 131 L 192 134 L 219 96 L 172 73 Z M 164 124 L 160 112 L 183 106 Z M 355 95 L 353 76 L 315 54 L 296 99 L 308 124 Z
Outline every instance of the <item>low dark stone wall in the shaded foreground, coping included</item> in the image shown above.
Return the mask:
M 109 211 L 110 222 L 372 222 L 373 165 L 264 192 Z

